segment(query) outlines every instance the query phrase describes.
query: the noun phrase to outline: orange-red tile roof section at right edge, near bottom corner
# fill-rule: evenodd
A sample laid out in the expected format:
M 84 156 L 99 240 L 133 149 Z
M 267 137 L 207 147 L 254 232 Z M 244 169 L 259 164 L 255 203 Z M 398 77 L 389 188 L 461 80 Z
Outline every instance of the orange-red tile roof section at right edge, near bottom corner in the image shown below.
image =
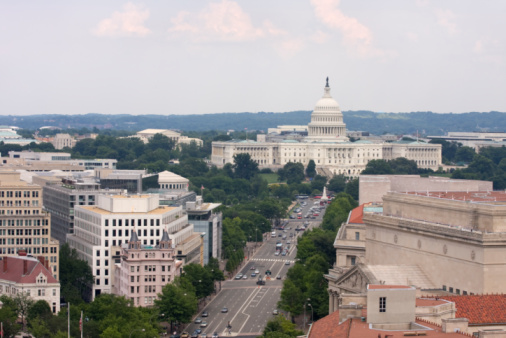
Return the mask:
M 469 319 L 469 325 L 506 323 L 506 295 L 440 296 L 455 303 L 457 318 Z

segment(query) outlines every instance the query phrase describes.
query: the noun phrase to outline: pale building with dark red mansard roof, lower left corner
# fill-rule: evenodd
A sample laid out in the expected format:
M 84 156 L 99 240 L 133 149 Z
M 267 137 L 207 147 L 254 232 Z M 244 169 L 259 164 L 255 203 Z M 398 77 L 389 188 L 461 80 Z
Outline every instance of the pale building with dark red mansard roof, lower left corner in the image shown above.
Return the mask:
M 45 300 L 53 313 L 60 311 L 60 283 L 49 271 L 44 257 L 1 257 L 0 295 L 25 293 L 34 301 Z

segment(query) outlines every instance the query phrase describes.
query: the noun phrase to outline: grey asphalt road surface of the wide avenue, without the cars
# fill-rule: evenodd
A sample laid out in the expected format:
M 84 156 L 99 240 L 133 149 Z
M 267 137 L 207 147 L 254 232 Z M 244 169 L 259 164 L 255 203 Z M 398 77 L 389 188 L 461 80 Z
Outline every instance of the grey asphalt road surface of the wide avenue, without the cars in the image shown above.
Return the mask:
M 313 203 L 309 200 L 304 209 L 309 210 L 311 206 Z M 304 214 L 305 210 L 302 212 Z M 235 280 L 233 275 L 232 279 L 222 282 L 221 292 L 198 315 L 201 317 L 203 311 L 209 314 L 208 317 L 201 317 L 207 322 L 207 327 L 203 327 L 202 332 L 207 333 L 208 337 L 213 332 L 218 332 L 220 337 L 260 335 L 267 321 L 274 316 L 273 311 L 277 309 L 286 272 L 295 263 L 296 240 L 302 235 L 302 231 L 295 231 L 297 224 L 300 226 L 304 221 L 309 221 L 308 228 L 312 228 L 321 223 L 321 217 L 320 214 L 316 219 L 289 220 L 284 231 L 275 230 L 276 237 L 271 237 L 270 233 L 265 234 L 266 241 L 259 245 L 256 251 L 253 247 L 253 252 L 246 252 L 249 259 L 244 261 L 235 275 L 242 273 L 247 279 Z M 290 234 L 293 234 L 293 237 L 290 237 Z M 286 240 L 278 235 L 286 235 Z M 281 241 L 283 247 L 286 247 L 288 241 L 291 242 L 286 256 L 275 256 L 277 241 Z M 265 285 L 257 285 L 258 275 L 251 276 L 255 270 L 259 271 Z M 270 277 L 265 274 L 267 270 L 271 271 Z M 276 279 L 277 276 L 280 276 L 280 279 Z M 223 308 L 227 308 L 228 312 L 222 313 Z M 230 334 L 227 329 L 229 324 Z M 199 324 L 192 323 L 186 331 L 192 333 L 199 327 Z

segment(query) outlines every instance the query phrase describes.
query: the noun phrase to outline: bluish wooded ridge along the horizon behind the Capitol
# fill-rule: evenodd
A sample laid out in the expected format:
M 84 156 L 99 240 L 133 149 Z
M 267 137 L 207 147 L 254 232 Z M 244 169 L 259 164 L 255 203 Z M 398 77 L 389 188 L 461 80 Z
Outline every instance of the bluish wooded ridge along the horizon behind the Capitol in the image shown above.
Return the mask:
M 506 132 L 506 113 L 436 114 L 432 112 L 375 113 L 345 111 L 348 130 L 368 131 L 373 134 L 444 135 L 448 131 Z M 310 111 L 287 113 L 220 113 L 203 115 L 29 115 L 0 116 L 0 125 L 23 129 L 42 126 L 66 128 L 143 130 L 147 128 L 182 131 L 205 130 L 263 130 L 278 125 L 304 125 L 311 120 Z

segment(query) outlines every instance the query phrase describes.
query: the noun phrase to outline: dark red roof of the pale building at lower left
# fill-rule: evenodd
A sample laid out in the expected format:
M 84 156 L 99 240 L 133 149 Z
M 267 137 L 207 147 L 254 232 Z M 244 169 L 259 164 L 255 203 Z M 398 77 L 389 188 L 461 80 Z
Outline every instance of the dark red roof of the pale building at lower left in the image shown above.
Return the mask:
M 5 264 L 6 262 L 7 264 Z M 24 273 L 25 264 L 26 274 Z M 34 258 L 2 257 L 2 260 L 0 260 L 0 279 L 15 283 L 31 284 L 36 282 L 36 278 L 41 272 L 46 276 L 47 283 L 58 283 L 51 272 Z

